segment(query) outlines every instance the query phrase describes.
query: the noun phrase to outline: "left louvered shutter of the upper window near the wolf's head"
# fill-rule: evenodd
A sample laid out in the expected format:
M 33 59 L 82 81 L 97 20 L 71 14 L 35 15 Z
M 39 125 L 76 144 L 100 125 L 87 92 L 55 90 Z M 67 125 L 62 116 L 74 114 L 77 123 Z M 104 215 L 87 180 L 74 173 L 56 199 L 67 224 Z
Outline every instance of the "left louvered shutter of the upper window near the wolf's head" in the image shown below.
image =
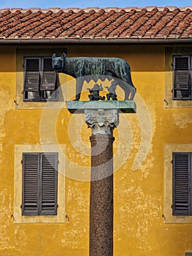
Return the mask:
M 24 91 L 39 91 L 40 58 L 24 59 Z

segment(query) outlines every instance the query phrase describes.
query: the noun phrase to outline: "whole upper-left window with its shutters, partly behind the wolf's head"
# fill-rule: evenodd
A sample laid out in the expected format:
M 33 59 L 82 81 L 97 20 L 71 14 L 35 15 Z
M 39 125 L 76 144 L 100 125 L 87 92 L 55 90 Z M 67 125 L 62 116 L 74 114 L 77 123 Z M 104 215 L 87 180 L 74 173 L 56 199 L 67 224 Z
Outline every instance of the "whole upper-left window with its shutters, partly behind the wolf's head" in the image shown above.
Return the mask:
M 24 101 L 57 101 L 58 75 L 50 57 L 24 57 Z

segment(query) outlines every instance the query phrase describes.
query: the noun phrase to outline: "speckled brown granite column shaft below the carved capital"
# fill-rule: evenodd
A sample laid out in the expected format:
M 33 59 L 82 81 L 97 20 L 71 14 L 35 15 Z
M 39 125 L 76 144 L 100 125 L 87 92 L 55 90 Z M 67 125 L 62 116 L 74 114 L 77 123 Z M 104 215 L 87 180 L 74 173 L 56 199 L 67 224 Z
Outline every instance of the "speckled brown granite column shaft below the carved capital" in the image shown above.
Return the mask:
M 113 255 L 113 154 L 114 137 L 91 138 L 90 256 Z

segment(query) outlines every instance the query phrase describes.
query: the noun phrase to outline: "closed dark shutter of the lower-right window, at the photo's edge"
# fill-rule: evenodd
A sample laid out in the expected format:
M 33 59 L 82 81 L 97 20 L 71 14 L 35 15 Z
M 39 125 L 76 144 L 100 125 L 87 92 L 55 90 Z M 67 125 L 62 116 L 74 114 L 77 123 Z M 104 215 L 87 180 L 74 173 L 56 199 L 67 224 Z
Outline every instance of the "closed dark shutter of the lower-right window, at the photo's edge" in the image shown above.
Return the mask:
M 173 215 L 191 215 L 191 154 L 173 153 Z

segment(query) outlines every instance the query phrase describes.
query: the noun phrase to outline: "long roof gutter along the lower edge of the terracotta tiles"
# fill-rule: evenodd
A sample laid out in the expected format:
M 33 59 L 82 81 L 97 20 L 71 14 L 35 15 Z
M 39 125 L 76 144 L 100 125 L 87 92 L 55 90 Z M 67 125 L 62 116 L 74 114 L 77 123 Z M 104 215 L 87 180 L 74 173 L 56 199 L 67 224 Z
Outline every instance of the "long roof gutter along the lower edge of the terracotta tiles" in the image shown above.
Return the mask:
M 107 38 L 64 38 L 64 39 L 0 39 L 0 45 L 23 45 L 23 44 L 169 44 L 169 43 L 192 43 L 192 38 L 186 39 L 107 39 Z

